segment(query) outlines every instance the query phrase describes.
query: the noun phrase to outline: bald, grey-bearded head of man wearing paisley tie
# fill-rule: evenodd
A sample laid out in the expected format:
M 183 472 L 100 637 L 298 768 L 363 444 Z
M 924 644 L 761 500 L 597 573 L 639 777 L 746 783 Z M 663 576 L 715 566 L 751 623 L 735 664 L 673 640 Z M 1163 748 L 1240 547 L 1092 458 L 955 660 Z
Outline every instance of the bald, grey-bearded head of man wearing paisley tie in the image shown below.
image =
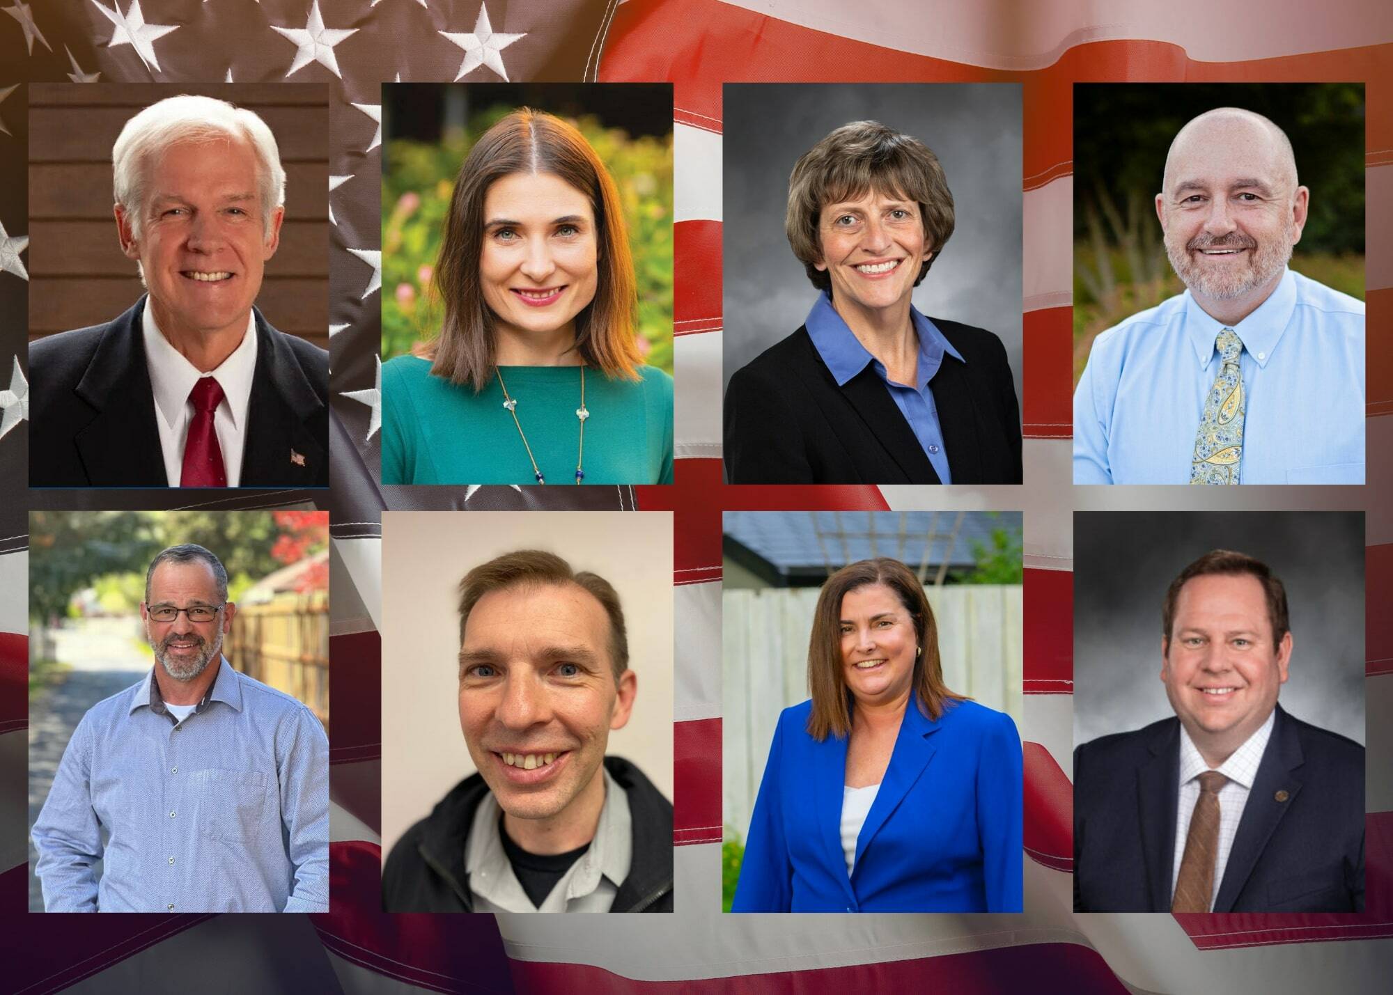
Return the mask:
M 1172 145 L 1156 215 L 1170 265 L 1201 304 L 1256 307 L 1301 240 L 1309 194 L 1273 128 L 1216 111 L 1191 121 Z

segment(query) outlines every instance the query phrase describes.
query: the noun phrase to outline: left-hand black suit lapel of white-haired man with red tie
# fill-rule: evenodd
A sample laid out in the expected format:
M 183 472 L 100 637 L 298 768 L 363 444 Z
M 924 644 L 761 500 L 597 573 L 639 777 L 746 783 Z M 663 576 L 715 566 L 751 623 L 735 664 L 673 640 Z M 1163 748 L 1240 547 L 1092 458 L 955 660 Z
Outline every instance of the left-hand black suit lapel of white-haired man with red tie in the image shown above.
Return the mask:
M 169 485 L 155 392 L 145 362 L 141 315 L 145 298 L 106 326 L 74 393 L 93 408 L 92 421 L 74 435 L 89 484 L 100 486 Z

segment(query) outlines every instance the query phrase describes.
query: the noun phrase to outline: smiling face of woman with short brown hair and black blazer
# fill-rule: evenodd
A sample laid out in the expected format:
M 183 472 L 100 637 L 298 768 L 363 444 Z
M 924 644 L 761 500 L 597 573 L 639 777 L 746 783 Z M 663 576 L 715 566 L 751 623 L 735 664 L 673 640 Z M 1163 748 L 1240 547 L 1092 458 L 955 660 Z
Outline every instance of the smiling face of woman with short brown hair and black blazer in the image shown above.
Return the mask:
M 818 220 L 822 261 L 839 314 L 866 315 L 907 308 L 914 283 L 933 247 L 912 199 L 868 191 L 829 203 Z

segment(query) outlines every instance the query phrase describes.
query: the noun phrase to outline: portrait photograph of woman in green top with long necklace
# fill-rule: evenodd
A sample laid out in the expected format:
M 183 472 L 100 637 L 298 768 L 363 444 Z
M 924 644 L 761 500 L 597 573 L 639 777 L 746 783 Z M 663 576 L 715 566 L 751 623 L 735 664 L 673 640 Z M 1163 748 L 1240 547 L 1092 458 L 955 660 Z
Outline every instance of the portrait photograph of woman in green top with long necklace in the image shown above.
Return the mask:
M 671 484 L 671 86 L 382 89 L 382 482 Z

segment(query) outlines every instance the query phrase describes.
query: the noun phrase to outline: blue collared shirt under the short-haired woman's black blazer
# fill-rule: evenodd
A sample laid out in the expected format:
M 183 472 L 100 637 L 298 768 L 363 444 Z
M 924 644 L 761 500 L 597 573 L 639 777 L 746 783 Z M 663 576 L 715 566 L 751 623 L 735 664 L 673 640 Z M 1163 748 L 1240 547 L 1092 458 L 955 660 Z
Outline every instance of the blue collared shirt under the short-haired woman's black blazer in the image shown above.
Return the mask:
M 933 326 L 933 322 L 921 315 L 912 305 L 910 307 L 910 319 L 919 337 L 919 365 L 915 375 L 917 383 L 912 387 L 886 378 L 885 364 L 871 355 L 866 347 L 857 340 L 847 323 L 841 321 L 841 315 L 832 307 L 832 298 L 826 291 L 812 305 L 804 325 L 818 355 L 832 371 L 839 387 L 846 386 L 847 380 L 865 369 L 868 362 L 875 364 L 876 375 L 890 392 L 900 414 L 914 429 L 914 438 L 919 440 L 924 454 L 929 457 L 933 472 L 943 484 L 951 484 L 949 454 L 943 449 L 943 429 L 939 426 L 939 410 L 933 404 L 933 390 L 929 389 L 929 380 L 939 372 L 944 354 L 951 355 L 958 362 L 964 362 L 964 360 L 943 337 L 943 333 Z

